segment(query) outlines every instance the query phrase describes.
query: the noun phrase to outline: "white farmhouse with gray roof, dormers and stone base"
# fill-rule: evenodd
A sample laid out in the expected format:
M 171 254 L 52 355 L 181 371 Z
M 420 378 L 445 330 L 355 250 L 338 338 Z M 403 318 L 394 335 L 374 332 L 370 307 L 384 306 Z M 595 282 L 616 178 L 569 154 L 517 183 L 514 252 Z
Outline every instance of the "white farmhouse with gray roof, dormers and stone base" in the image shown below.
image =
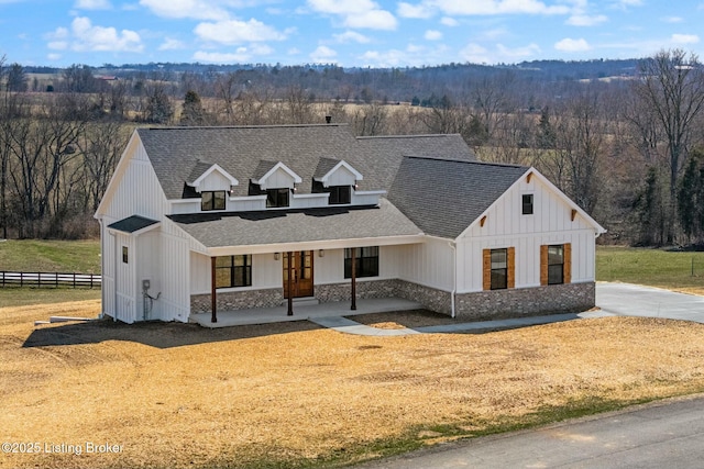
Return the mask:
M 127 323 L 289 298 L 580 311 L 604 233 L 536 169 L 479 163 L 459 135 L 338 124 L 139 129 L 95 216 L 102 311 Z

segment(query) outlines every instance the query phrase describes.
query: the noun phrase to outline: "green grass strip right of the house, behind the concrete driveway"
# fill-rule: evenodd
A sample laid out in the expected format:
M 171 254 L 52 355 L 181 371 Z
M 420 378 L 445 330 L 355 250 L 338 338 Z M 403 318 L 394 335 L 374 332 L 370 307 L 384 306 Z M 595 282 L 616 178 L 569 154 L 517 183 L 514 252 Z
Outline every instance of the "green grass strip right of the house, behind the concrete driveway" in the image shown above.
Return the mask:
M 704 288 L 704 253 L 598 246 L 596 280 L 667 289 Z

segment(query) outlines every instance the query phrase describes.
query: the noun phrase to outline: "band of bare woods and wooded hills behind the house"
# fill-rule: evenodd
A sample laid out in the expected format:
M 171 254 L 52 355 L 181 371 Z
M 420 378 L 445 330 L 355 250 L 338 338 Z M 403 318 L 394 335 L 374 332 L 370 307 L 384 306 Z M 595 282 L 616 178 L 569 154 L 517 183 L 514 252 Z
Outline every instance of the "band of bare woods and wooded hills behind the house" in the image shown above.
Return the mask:
M 607 242 L 701 245 L 704 69 L 681 49 L 635 64 L 591 79 L 479 66 L 464 75 L 332 66 L 121 70 L 106 79 L 75 65 L 42 86 L 2 58 L 1 234 L 94 235 L 88 220 L 135 125 L 330 116 L 356 135 L 458 133 L 480 159 L 535 166 L 609 230 Z

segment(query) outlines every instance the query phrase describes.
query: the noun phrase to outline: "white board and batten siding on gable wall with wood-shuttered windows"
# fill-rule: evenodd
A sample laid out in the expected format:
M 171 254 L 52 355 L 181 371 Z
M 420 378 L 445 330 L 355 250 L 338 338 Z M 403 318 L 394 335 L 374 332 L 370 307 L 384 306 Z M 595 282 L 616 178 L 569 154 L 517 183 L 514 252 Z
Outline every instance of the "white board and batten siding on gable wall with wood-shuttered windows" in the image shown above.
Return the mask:
M 522 196 L 534 196 L 534 213 L 522 214 Z M 570 243 L 571 281 L 594 281 L 595 227 L 540 178 L 522 177 L 458 238 L 458 292 L 483 290 L 484 249 L 514 247 L 515 287 L 540 286 L 540 247 Z

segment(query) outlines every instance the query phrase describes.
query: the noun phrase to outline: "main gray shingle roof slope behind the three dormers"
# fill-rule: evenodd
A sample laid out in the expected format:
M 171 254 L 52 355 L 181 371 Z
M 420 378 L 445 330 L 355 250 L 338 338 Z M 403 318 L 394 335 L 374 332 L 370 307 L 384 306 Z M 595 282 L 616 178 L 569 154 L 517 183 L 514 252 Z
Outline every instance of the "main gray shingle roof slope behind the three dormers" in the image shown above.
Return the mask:
M 235 197 L 248 196 L 249 180 L 263 176 L 260 165 L 264 161 L 274 165 L 280 161 L 299 175 L 302 182 L 298 193 L 311 192 L 314 172 L 321 158 L 344 159 L 363 175 L 371 172 L 356 139 L 343 124 L 166 127 L 136 132 L 167 199 L 191 193 L 185 183 L 200 170 L 199 161 L 218 164 L 237 178 L 240 185 L 233 188 Z M 381 188 L 361 185 L 361 190 L 372 189 Z

